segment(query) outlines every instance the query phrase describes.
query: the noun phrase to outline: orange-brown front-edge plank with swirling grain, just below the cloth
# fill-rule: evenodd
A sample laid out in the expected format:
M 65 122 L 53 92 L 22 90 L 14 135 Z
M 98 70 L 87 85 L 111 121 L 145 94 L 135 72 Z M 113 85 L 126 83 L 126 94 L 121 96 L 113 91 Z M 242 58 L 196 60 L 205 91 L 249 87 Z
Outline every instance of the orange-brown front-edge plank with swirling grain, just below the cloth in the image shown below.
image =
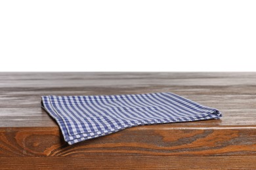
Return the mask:
M 0 129 L 0 156 L 255 155 L 255 131 L 256 127 L 166 124 L 133 127 L 68 145 L 57 127 L 10 127 Z

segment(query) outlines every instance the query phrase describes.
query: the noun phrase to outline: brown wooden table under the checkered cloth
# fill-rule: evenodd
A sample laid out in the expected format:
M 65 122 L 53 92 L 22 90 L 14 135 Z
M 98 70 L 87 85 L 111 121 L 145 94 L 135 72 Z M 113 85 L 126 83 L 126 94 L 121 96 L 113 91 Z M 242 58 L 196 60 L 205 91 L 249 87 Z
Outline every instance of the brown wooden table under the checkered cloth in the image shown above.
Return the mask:
M 69 146 L 41 95 L 173 92 L 221 120 L 139 126 Z M 256 169 L 256 73 L 0 73 L 0 169 Z

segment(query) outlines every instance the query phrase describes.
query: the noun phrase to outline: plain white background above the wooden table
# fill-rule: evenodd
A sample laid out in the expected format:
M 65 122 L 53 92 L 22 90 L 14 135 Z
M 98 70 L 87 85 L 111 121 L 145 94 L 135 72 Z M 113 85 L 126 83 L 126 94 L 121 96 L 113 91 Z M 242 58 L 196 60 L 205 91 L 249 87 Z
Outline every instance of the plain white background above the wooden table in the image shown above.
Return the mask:
M 0 1 L 0 71 L 256 71 L 256 1 Z

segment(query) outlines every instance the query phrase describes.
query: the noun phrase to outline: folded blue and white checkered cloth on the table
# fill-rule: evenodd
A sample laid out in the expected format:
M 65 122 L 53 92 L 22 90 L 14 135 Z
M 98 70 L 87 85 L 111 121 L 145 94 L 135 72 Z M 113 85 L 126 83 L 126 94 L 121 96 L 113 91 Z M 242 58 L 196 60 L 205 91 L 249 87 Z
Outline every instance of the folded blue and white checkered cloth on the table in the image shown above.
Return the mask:
M 42 107 L 56 120 L 68 144 L 100 137 L 127 127 L 221 118 L 174 93 L 42 96 Z

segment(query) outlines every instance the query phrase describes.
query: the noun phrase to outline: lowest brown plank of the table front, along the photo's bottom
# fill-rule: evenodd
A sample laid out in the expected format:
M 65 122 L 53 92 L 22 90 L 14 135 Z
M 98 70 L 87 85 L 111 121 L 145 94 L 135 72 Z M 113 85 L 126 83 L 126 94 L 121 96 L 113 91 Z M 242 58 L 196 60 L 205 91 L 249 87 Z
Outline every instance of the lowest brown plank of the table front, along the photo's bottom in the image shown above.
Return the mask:
M 33 163 L 32 163 L 33 162 Z M 255 169 L 256 156 L 3 157 L 1 169 Z

